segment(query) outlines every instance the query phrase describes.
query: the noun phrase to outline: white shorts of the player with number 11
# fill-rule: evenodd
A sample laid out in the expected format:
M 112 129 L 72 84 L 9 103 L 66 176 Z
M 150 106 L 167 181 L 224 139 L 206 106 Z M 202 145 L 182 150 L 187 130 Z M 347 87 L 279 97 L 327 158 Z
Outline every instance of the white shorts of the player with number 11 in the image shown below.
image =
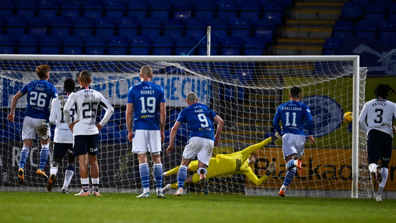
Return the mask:
M 287 133 L 282 136 L 282 151 L 283 156 L 296 153 L 295 157 L 302 157 L 304 154 L 304 146 L 307 139 L 303 135 Z

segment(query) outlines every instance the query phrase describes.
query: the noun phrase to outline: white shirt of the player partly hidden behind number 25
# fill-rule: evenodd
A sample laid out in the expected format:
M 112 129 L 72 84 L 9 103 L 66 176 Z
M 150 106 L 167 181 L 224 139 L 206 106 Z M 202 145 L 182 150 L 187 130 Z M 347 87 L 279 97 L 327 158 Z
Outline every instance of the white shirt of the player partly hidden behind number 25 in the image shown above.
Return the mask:
M 69 95 L 70 93 L 66 93 L 52 100 L 49 122 L 56 125 L 53 142 L 73 143 L 73 133 L 70 131 L 69 126 L 67 126 L 65 116 L 63 115 L 63 108 L 65 107 Z M 74 117 L 75 110 L 73 105 L 70 109 L 70 118 L 72 121 L 74 121 Z

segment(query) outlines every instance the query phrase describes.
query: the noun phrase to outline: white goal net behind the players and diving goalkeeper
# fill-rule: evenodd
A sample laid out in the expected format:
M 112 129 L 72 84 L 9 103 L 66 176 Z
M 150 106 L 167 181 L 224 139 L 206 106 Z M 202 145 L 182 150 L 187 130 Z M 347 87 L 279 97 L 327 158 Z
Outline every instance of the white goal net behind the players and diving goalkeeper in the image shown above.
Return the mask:
M 138 83 L 141 66 L 150 65 L 154 70 L 152 81 L 164 87 L 167 118 L 163 145 L 168 146 L 169 132 L 177 115 L 186 106 L 184 98 L 190 91 L 198 94 L 200 103 L 207 104 L 225 120 L 217 154 L 230 154 L 256 144 L 275 133 L 272 119 L 276 108 L 288 100 L 289 88 L 301 87 L 302 103 L 311 109 L 314 119 L 316 143 L 306 144 L 303 157 L 304 170 L 297 174 L 289 186 L 289 194 L 295 196 L 350 197 L 352 190 L 352 124 L 344 124 L 343 113 L 352 111 L 353 62 L 343 62 L 318 57 L 318 61 L 304 61 L 301 57 L 282 62 L 276 57 L 59 57 L 21 55 L 17 60 L 2 57 L 0 60 L 1 120 L 0 126 L 0 186 L 1 190 L 46 191 L 46 180 L 36 177 L 40 144 L 36 140 L 26 162 L 26 182 L 19 186 L 17 167 L 22 147 L 21 129 L 26 106 L 21 98 L 15 111 L 15 122 L 8 122 L 11 98 L 23 85 L 37 79 L 35 69 L 40 64 L 51 67 L 49 82 L 59 93 L 63 92 L 63 80 L 76 79 L 78 72 L 93 73 L 91 87 L 100 91 L 113 105 L 115 112 L 109 123 L 99 134 L 99 168 L 101 185 L 105 192 L 136 192 L 141 190 L 137 155 L 127 143 L 126 99 L 129 87 Z M 197 58 L 197 60 L 194 60 Z M 205 59 L 203 59 L 205 58 Z M 139 61 L 140 60 L 140 61 Z M 274 62 L 275 61 L 275 62 Z M 359 105 L 364 104 L 365 68 L 360 68 Z M 76 81 L 78 83 L 78 81 Z M 353 111 L 354 112 L 354 111 Z M 97 119 L 104 111 L 99 110 Z M 54 129 L 53 126 L 51 129 Z M 187 144 L 188 130 L 183 124 L 177 133 L 175 149 L 167 156 L 163 151 L 164 171 L 180 165 L 181 154 Z M 366 134 L 359 131 L 359 197 L 370 197 L 373 183 L 367 170 Z M 52 148 L 52 146 L 51 146 Z M 259 160 L 249 164 L 260 178 L 266 173 L 270 162 L 277 164 L 276 170 L 266 181 L 256 185 L 242 172 L 212 178 L 208 186 L 188 185 L 190 193 L 223 193 L 246 195 L 276 195 L 286 174 L 283 161 L 282 140 L 276 140 L 254 151 Z M 66 158 L 65 158 L 66 159 Z M 150 187 L 154 188 L 152 163 Z M 49 172 L 52 155 L 45 171 Z M 245 165 L 245 160 L 236 160 L 236 171 Z M 63 185 L 67 163 L 59 168 L 54 192 Z M 78 165 L 77 165 L 78 166 Z M 240 170 L 240 169 L 239 169 Z M 221 171 L 220 171 L 221 172 Z M 192 173 L 189 173 L 192 174 Z M 80 176 L 76 168 L 70 186 L 72 191 L 80 189 Z M 164 185 L 176 183 L 176 175 L 164 178 Z

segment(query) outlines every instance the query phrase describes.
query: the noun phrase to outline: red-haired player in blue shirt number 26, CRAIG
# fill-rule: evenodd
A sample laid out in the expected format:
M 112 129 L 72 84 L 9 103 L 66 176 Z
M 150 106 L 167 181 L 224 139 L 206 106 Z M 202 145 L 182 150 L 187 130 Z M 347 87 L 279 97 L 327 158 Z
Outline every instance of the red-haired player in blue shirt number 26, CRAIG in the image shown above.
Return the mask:
M 17 101 L 23 95 L 27 94 L 27 104 L 25 118 L 23 119 L 22 140 L 23 148 L 19 159 L 18 182 L 23 185 L 25 183 L 25 163 L 29 156 L 30 148 L 36 133 L 41 141 L 40 165 L 38 166 L 37 176 L 48 178 L 44 172 L 44 166 L 49 154 L 49 137 L 51 131 L 49 129 L 49 101 L 56 98 L 58 93 L 53 84 L 48 83 L 49 66 L 47 64 L 40 65 L 36 68 L 38 80 L 30 81 L 15 96 L 11 102 L 11 112 L 8 115 L 8 121 L 14 121 L 14 112 Z

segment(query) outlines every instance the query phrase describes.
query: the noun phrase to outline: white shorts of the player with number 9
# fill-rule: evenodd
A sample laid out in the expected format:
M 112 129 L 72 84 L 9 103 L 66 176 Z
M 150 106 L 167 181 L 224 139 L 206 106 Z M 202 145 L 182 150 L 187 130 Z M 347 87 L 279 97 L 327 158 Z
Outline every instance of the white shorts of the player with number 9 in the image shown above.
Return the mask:
M 197 157 L 198 161 L 209 166 L 214 144 L 215 142 L 213 140 L 207 138 L 192 137 L 188 140 L 188 144 L 184 148 L 183 158 L 195 159 L 195 157 Z

